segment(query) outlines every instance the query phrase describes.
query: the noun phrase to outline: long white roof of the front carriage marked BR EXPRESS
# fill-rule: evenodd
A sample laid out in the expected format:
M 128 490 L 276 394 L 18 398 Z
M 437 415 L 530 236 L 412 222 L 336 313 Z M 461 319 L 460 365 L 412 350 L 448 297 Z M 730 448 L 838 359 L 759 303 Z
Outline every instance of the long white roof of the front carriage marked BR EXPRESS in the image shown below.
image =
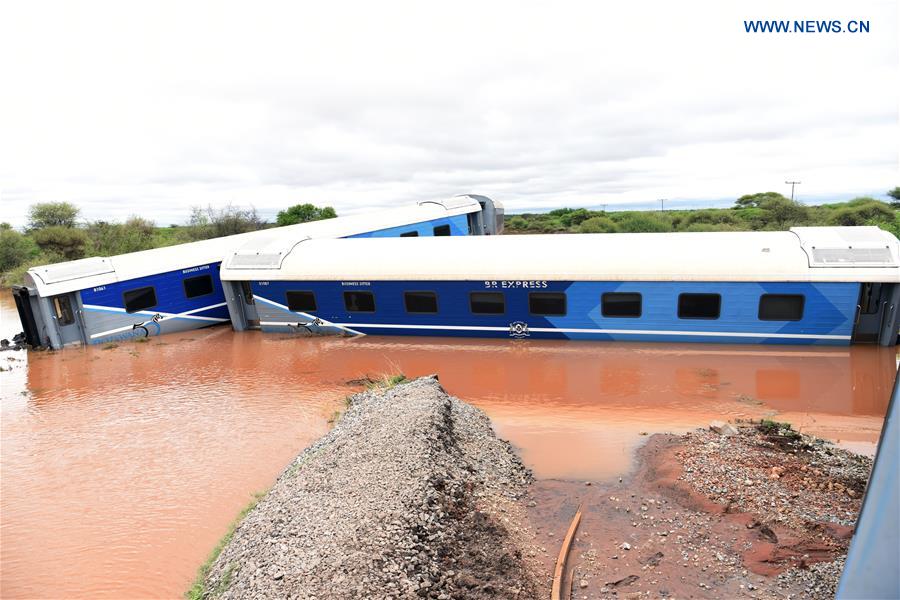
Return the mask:
M 838 256 L 816 262 L 813 246 Z M 854 254 L 857 249 L 862 253 Z M 223 268 L 222 279 L 900 282 L 898 265 L 897 238 L 876 227 L 797 228 L 320 239 L 298 244 L 281 268 Z

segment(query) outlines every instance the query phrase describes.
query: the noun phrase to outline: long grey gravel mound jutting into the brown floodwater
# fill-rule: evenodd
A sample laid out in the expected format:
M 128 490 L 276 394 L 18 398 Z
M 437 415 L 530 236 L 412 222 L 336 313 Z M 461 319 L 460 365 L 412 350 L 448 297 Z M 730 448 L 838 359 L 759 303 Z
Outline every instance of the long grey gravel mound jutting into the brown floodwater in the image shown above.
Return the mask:
M 237 528 L 206 595 L 537 597 L 531 479 L 434 377 L 357 394 Z

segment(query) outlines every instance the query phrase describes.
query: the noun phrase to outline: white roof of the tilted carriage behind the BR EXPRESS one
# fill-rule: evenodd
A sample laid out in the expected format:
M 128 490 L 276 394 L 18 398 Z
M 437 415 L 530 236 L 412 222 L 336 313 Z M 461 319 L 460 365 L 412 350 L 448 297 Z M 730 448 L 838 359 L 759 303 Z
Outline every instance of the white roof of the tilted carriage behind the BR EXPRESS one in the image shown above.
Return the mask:
M 273 245 L 287 247 L 289 250 L 297 242 L 306 239 L 357 235 L 440 217 L 468 214 L 480 209 L 481 205 L 475 198 L 467 195 L 454 196 L 445 202 L 419 202 L 400 208 L 251 231 L 118 256 L 84 258 L 33 267 L 28 270 L 28 275 L 41 296 L 53 296 L 215 263 L 236 252 L 257 252 L 257 249 Z

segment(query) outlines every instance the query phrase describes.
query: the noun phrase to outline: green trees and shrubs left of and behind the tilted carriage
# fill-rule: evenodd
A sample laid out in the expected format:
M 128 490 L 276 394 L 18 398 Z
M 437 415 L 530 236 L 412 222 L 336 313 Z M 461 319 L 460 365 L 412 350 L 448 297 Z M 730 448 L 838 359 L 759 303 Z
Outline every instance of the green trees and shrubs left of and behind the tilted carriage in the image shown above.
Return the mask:
M 21 283 L 33 266 L 87 256 L 114 256 L 337 216 L 330 206 L 298 204 L 279 212 L 275 223 L 267 223 L 254 208 L 210 206 L 192 208 L 184 225 L 157 227 L 153 221 L 137 216 L 123 223 L 83 221 L 80 212 L 68 202 L 46 202 L 29 207 L 23 232 L 9 223 L 0 223 L 2 284 Z

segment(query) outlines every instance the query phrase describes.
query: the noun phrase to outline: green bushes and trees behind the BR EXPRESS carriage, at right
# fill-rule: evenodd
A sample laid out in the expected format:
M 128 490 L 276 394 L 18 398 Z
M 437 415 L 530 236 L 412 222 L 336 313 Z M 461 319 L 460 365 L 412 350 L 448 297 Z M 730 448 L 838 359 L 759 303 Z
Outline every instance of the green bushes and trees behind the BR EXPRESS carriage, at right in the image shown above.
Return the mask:
M 506 233 L 644 233 L 669 231 L 773 231 L 796 226 L 876 225 L 900 238 L 900 188 L 890 204 L 856 198 L 806 206 L 776 192 L 741 196 L 732 208 L 616 211 L 561 208 L 507 215 Z

